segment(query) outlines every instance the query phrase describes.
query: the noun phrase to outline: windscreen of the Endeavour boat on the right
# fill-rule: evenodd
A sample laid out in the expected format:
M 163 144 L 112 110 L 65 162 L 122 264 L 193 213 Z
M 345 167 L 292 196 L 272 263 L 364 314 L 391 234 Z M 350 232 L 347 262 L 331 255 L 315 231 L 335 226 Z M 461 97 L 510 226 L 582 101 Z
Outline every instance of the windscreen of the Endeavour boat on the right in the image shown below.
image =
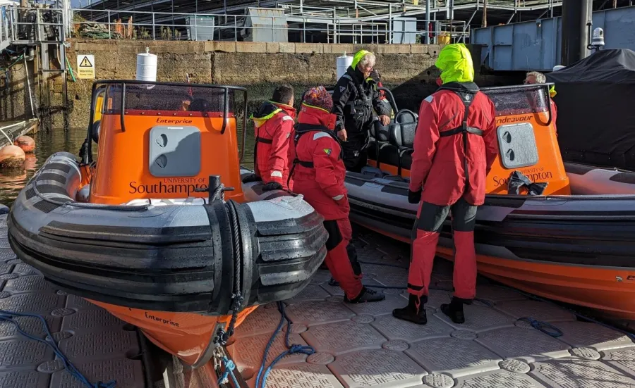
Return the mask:
M 549 89 L 545 85 L 483 88 L 496 106 L 496 115 L 523 115 L 548 111 Z

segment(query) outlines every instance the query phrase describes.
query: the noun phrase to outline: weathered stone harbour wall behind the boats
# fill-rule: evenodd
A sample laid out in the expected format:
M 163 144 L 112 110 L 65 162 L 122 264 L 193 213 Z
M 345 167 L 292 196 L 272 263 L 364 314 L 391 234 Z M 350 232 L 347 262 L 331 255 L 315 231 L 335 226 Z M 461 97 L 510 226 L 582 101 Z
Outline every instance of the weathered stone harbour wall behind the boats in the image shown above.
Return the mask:
M 375 67 L 385 87 L 392 89 L 399 108 L 417 109 L 421 99 L 437 88 L 439 76 L 434 63 L 442 48 L 425 44 L 314 44 L 270 42 L 170 42 L 137 40 L 71 39 L 66 51 L 76 72 L 79 54 L 95 56 L 96 80 L 135 79 L 136 55 L 145 52 L 158 56 L 157 81 L 236 85 L 248 88 L 253 110 L 270 99 L 276 85 L 287 83 L 296 89 L 298 100 L 304 90 L 316 85 L 333 86 L 337 56 L 354 54 L 359 49 L 373 51 Z M 480 48 L 476 51 L 480 52 Z M 478 56 L 474 55 L 474 58 Z M 479 73 L 478 61 L 475 61 Z M 68 80 L 68 124 L 87 125 L 93 80 Z M 481 86 L 506 85 L 501 77 L 480 76 Z M 61 76 L 49 80 L 45 89 L 50 101 L 61 101 Z M 18 89 L 16 87 L 16 89 Z M 21 96 L 23 99 L 23 96 Z M 22 100 L 24 101 L 24 100 Z M 250 111 L 248 112 L 250 113 Z M 4 120 L 11 118 L 4 118 Z M 54 127 L 62 124 L 54 118 Z

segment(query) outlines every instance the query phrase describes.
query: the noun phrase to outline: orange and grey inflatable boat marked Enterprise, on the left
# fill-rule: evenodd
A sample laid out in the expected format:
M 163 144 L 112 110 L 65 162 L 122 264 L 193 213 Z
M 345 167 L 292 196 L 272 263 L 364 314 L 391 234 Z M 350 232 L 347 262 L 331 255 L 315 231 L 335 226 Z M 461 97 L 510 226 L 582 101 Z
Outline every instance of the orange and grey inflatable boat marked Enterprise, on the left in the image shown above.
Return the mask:
M 59 152 L 32 177 L 8 215 L 11 247 L 185 363 L 207 362 L 218 329 L 300 292 L 326 255 L 302 196 L 241 184 L 246 102 L 237 87 L 96 82 L 81 161 Z

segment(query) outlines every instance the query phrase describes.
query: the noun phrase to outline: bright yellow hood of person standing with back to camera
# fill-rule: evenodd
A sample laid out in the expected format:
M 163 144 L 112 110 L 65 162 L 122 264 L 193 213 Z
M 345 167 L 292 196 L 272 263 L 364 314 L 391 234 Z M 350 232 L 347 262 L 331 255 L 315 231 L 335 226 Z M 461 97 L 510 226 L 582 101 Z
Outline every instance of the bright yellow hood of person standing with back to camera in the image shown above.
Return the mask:
M 435 66 L 441 70 L 441 80 L 448 82 L 473 82 L 474 65 L 465 44 L 454 43 L 444 46 Z

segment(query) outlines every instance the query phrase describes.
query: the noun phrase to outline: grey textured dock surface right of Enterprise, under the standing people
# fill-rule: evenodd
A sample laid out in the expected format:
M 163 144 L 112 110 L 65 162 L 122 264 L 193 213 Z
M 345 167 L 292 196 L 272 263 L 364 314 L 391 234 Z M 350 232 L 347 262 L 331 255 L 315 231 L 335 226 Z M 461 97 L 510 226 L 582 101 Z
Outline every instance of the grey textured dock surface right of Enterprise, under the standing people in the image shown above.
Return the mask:
M 380 245 L 382 244 L 382 245 Z M 409 249 L 376 234 L 356 241 L 370 287 L 405 287 Z M 404 248 L 405 247 L 405 248 Z M 389 264 L 385 266 L 380 264 Z M 483 280 L 478 301 L 465 306 L 466 323 L 452 323 L 440 311 L 452 296 L 452 265 L 437 261 L 425 308 L 424 326 L 397 320 L 402 289 L 386 292 L 379 303 L 346 304 L 338 287 L 320 270 L 301 294 L 285 301 L 294 322 L 292 343 L 310 344 L 317 353 L 287 356 L 267 380 L 267 388 L 627 388 L 635 387 L 635 343 L 624 334 L 582 323 L 564 308 L 533 301 L 520 292 Z M 550 337 L 518 318 L 551 323 L 564 333 Z M 236 331 L 230 346 L 249 387 L 280 320 L 275 305 L 261 306 Z M 267 365 L 286 348 L 280 332 Z M 629 384 L 633 384 L 632 386 Z

